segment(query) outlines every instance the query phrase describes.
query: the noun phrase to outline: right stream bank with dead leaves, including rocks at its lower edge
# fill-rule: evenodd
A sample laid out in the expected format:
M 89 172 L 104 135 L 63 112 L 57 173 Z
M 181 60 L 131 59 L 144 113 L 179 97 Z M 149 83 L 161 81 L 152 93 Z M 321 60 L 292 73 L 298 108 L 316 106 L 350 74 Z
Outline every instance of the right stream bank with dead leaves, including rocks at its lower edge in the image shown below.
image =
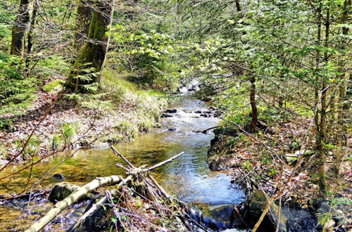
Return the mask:
M 332 166 L 334 153 L 338 149 L 329 149 L 326 170 L 329 196 L 320 200 L 318 167 L 314 162 L 318 154 L 314 152 L 314 142 L 303 147 L 306 141 L 305 131 L 311 123 L 310 120 L 299 117 L 294 122 L 265 124 L 265 127 L 251 135 L 229 123 L 227 127 L 215 129 L 215 138 L 208 150 L 208 164 L 213 170 L 230 174 L 232 183 L 242 186 L 247 195 L 258 195 L 258 189 L 272 195 L 279 183 L 287 183 L 281 197 L 282 208 L 304 210 L 305 214 L 309 213 L 316 220 L 312 224 L 312 219 L 300 217 L 299 213 L 291 214 L 294 215 L 291 218 L 293 228 L 304 228 L 298 221 L 305 224 L 310 221 L 309 224 L 313 227 L 309 229 L 313 231 L 322 229 L 322 226 L 315 227 L 317 224 L 325 225 L 325 229 L 336 227 L 346 231 L 351 228 L 352 222 L 349 210 L 352 196 L 351 161 L 348 159 L 348 154 L 351 154 L 351 140 L 348 141 L 348 146 L 342 148 L 345 157 L 340 167 L 339 181 L 334 176 Z M 295 167 L 298 159 L 300 164 Z M 289 181 L 292 172 L 293 178 Z M 265 200 L 264 197 L 263 199 Z M 279 200 L 276 203 L 279 205 Z M 250 205 L 246 207 L 248 210 Z M 258 218 L 253 222 L 256 220 Z

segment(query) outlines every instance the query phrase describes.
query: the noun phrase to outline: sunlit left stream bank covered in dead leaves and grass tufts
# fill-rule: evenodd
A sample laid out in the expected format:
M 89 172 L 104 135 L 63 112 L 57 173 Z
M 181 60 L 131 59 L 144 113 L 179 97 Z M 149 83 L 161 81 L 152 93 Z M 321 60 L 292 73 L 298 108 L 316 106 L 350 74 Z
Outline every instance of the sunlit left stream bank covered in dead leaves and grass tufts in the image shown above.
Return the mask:
M 0 165 L 20 152 L 32 131 L 27 147 L 15 161 L 44 157 L 61 151 L 68 143 L 69 148 L 76 148 L 130 141 L 137 134 L 158 126 L 158 117 L 167 104 L 165 99 L 140 94 L 137 90 L 124 93 L 122 101 L 108 107 L 103 101 L 87 100 L 82 104 L 63 96 L 46 115 L 58 91 L 37 90 L 36 98 L 21 115 L 8 116 L 13 122 L 11 131 L 0 130 Z

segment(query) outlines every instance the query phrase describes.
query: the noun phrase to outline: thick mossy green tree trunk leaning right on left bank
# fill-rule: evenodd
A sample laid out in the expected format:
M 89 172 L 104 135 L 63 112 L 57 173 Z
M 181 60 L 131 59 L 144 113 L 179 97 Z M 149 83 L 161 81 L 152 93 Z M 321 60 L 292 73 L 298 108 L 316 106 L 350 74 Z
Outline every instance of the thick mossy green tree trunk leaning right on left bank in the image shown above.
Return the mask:
M 68 77 L 67 86 L 71 91 L 85 92 L 88 85 L 99 84 L 100 75 L 90 76 L 89 79 L 82 76 L 87 73 L 84 70 L 89 67 L 93 67 L 94 72 L 101 72 L 109 43 L 109 36 L 106 32 L 111 26 L 112 17 L 113 0 L 93 1 L 93 13 L 88 38 Z

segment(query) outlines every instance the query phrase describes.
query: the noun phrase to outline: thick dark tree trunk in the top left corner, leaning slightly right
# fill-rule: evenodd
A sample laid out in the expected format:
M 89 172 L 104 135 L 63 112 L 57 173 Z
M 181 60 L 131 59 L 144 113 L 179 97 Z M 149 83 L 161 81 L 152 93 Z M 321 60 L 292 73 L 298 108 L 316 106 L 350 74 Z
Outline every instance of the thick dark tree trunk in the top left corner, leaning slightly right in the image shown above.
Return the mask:
M 25 34 L 30 22 L 30 0 L 20 0 L 20 8 L 12 28 L 11 55 L 25 55 Z

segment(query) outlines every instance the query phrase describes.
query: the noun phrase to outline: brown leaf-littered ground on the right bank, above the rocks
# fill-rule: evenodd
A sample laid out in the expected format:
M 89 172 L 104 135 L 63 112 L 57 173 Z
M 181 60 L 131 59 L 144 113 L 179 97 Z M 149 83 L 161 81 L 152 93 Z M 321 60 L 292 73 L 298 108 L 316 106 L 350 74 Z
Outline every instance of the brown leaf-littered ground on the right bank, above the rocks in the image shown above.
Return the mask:
M 268 193 L 274 193 L 277 183 L 283 181 L 287 183 L 282 195 L 283 201 L 303 208 L 308 207 L 309 200 L 318 198 L 319 193 L 316 165 L 318 154 L 311 152 L 315 142 L 311 140 L 305 145 L 307 141 L 305 135 L 310 124 L 312 124 L 310 120 L 300 117 L 291 122 L 270 125 L 270 133 L 259 131 L 254 135 L 274 152 L 244 133 L 239 136 L 220 136 L 210 148 L 208 159 L 210 167 L 232 175 L 234 183 L 244 186 L 247 191 L 251 191 L 255 186 Z M 341 148 L 344 162 L 341 164 L 339 180 L 333 175 L 332 165 L 336 160 L 334 154 L 339 152 L 339 149 L 329 149 L 327 152 L 328 195 L 329 198 L 334 198 L 335 202 L 350 202 L 352 199 L 351 160 L 348 157 L 352 151 L 351 147 L 352 141 L 348 138 L 347 146 Z M 297 154 L 303 153 L 304 150 L 306 153 L 300 158 L 298 167 L 295 167 L 297 161 L 287 162 L 286 157 L 301 156 Z M 292 172 L 293 178 L 288 181 Z

